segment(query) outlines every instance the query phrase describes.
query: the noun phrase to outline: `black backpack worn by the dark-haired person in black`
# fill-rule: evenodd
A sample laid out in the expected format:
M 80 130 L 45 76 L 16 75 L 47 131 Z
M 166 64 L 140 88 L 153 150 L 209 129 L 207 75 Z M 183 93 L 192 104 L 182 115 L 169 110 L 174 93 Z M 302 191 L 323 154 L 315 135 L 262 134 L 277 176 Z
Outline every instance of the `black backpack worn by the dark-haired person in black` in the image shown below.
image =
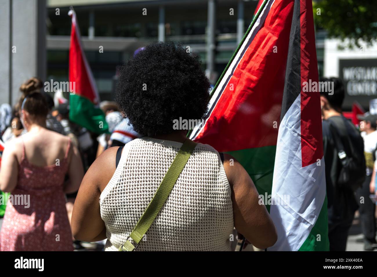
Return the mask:
M 344 122 L 344 120 L 347 119 L 343 119 L 343 124 L 347 130 L 346 122 Z M 328 120 L 328 122 L 340 162 L 337 185 L 340 188 L 348 188 L 352 191 L 356 191 L 358 188 L 362 187 L 362 184 L 365 181 L 365 157 L 364 149 L 361 147 L 357 149 L 354 144 L 357 143 L 359 146 L 364 145 L 363 139 L 360 136 L 359 142 L 352 142 L 349 134 L 347 133 L 348 148 L 345 148 L 335 124 L 331 123 L 331 120 Z

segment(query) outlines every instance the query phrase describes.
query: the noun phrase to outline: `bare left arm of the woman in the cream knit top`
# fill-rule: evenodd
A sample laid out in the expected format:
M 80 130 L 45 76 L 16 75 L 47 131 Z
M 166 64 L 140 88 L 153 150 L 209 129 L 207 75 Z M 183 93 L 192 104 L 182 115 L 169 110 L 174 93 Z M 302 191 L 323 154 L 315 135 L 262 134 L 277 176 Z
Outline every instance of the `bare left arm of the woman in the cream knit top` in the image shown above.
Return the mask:
M 93 242 L 106 239 L 100 214 L 100 195 L 115 172 L 118 147 L 105 150 L 89 167 L 76 197 L 72 212 L 72 234 L 77 240 Z

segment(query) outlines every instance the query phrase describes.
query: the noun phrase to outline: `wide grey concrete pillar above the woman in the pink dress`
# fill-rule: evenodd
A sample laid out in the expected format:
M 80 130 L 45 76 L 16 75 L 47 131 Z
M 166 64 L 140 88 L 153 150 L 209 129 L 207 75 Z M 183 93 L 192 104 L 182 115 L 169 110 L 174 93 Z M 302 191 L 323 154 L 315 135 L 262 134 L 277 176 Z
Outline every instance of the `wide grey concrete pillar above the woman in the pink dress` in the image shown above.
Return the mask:
M 0 104 L 14 105 L 23 82 L 46 79 L 46 0 L 0 0 L 0 6 Z

